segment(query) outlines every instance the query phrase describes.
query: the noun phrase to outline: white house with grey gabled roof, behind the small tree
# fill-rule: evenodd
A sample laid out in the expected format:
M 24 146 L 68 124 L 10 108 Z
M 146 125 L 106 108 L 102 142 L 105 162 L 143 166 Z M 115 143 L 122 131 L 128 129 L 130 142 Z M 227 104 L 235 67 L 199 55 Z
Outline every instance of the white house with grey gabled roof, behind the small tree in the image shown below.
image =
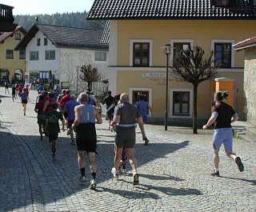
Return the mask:
M 86 89 L 79 69 L 91 64 L 101 78 L 108 78 L 109 46 L 101 44 L 102 30 L 51 26 L 34 23 L 15 50 L 26 50 L 26 83 L 38 79 L 46 86 L 69 87 L 78 92 Z M 102 90 L 101 83 L 94 91 Z

